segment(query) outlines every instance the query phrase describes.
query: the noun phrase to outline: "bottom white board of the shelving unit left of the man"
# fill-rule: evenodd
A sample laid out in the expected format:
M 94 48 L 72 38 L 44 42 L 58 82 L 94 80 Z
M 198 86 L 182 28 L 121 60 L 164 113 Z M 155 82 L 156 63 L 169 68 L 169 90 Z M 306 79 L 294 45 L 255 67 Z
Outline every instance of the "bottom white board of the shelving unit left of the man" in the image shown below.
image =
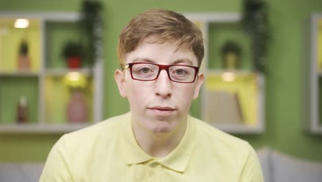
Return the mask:
M 61 124 L 61 125 L 41 125 L 41 124 L 17 124 L 17 125 L 0 125 L 0 133 L 66 133 L 80 130 L 91 124 Z

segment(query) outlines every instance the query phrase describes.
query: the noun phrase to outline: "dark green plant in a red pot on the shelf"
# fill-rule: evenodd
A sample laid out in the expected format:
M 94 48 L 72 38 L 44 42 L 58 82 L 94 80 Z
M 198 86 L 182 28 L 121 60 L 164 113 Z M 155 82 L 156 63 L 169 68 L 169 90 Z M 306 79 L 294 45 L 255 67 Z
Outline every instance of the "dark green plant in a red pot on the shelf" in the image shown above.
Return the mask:
M 76 41 L 68 41 L 63 46 L 62 56 L 67 61 L 68 68 L 81 68 L 83 57 L 83 45 Z

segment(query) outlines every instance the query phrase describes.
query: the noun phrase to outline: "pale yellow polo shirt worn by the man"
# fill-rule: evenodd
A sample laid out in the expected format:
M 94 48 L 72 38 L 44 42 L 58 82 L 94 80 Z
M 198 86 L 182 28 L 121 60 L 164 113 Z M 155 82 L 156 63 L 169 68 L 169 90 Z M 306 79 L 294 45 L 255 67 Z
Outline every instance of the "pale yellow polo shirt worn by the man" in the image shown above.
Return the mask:
M 189 116 L 178 146 L 154 158 L 136 142 L 130 116 L 62 136 L 40 181 L 264 181 L 257 155 L 246 141 Z

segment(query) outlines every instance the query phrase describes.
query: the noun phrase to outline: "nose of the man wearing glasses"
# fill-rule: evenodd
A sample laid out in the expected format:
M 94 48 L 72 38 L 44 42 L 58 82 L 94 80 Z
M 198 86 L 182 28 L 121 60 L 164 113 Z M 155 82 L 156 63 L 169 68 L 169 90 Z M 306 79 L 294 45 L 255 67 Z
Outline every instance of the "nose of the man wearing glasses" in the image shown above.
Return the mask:
M 171 80 L 168 77 L 166 70 L 161 70 L 158 79 L 155 81 L 155 94 L 164 99 L 171 97 L 172 88 Z

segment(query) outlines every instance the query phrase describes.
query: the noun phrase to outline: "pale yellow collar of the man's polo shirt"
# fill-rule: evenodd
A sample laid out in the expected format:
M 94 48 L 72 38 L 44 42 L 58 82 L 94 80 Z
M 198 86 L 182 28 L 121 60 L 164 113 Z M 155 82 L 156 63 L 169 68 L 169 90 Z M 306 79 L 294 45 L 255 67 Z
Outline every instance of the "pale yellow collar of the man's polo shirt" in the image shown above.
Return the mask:
M 195 143 L 195 130 L 190 116 L 187 119 L 186 132 L 184 132 L 184 136 L 178 146 L 170 154 L 159 159 L 150 156 L 138 145 L 131 126 L 131 112 L 125 114 L 125 120 L 126 122 L 123 125 L 125 130 L 122 130 L 120 142 L 125 163 L 131 165 L 155 160 L 171 170 L 184 172 L 191 158 Z

